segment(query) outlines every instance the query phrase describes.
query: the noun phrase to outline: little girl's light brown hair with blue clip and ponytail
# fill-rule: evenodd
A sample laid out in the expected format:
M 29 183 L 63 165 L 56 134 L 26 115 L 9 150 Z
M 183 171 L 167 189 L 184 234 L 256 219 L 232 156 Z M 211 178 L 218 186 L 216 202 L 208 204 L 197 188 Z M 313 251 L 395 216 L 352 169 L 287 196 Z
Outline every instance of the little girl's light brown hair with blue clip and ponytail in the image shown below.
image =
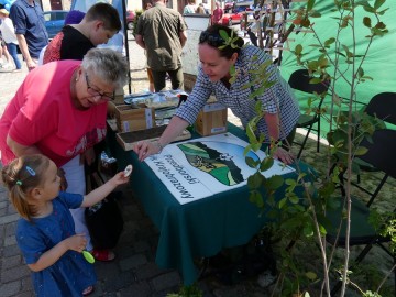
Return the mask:
M 43 175 L 48 166 L 50 158 L 44 155 L 25 155 L 13 160 L 1 170 L 1 179 L 12 205 L 28 221 L 37 213 L 30 204 L 31 190 L 43 185 Z

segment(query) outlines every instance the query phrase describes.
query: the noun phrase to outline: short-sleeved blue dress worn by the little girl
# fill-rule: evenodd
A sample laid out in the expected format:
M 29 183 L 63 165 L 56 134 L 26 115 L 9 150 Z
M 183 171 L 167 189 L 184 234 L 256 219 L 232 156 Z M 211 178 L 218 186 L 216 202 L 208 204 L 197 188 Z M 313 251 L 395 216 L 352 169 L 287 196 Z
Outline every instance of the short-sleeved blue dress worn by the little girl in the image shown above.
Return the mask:
M 82 196 L 59 193 L 53 200 L 53 212 L 44 218 L 18 221 L 16 241 L 25 262 L 33 264 L 57 243 L 74 234 L 75 224 L 69 208 L 78 208 Z M 94 266 L 82 254 L 67 251 L 52 266 L 32 273 L 34 290 L 37 296 L 82 296 L 82 290 L 96 283 Z

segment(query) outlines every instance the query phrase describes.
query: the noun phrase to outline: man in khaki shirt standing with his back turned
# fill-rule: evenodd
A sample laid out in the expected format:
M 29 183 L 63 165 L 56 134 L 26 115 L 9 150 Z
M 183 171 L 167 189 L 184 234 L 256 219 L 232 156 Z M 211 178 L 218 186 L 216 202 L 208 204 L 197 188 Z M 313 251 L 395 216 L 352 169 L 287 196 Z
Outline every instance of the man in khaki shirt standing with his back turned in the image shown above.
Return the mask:
M 182 48 L 187 25 L 179 12 L 166 8 L 166 0 L 154 0 L 154 4 L 139 18 L 135 41 L 146 50 L 155 91 L 165 88 L 166 74 L 173 89 L 183 89 Z

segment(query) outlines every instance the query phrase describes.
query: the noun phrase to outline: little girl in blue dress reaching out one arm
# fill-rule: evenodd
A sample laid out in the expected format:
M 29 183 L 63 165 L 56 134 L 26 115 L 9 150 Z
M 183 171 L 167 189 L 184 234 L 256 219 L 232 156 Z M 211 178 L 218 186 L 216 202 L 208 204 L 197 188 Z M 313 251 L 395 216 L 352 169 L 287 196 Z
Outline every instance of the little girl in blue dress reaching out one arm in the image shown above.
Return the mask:
M 44 155 L 12 161 L 1 177 L 11 202 L 21 215 L 16 241 L 33 271 L 37 296 L 81 296 L 94 290 L 96 274 L 81 252 L 85 234 L 76 234 L 69 208 L 90 207 L 129 177 L 123 172 L 86 196 L 59 191 L 54 162 Z

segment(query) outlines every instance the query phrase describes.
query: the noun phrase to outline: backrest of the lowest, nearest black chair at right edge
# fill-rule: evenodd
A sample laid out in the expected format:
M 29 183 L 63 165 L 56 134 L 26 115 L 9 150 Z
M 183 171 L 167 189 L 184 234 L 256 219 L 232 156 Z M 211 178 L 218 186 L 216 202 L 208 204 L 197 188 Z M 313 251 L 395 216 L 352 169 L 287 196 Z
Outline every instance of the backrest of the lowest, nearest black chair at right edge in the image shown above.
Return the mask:
M 361 160 L 396 178 L 396 130 L 376 130 L 373 142 L 364 139 L 360 146 L 369 148 L 366 154 L 359 156 Z

